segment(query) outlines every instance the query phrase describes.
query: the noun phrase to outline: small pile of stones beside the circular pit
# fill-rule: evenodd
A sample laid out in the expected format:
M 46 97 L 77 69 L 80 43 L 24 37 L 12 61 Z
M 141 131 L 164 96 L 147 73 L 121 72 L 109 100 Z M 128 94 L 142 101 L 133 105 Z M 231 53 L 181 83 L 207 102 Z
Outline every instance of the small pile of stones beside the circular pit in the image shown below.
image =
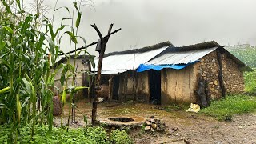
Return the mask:
M 164 132 L 166 130 L 166 123 L 159 118 L 154 118 L 154 116 L 151 116 L 150 119 L 146 119 L 144 130 L 151 132 Z

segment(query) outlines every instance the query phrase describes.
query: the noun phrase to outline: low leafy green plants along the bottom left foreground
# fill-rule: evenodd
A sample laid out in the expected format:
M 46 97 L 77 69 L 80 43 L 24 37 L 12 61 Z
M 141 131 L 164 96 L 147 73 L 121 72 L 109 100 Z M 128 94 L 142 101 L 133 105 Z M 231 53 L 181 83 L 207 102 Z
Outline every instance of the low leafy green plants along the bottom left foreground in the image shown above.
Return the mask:
M 34 137 L 30 136 L 30 126 L 22 126 L 18 131 L 18 143 L 132 143 L 125 131 L 114 130 L 107 134 L 102 127 L 87 127 L 82 129 L 70 129 L 69 132 L 60 128 L 53 128 L 52 134 L 47 134 L 47 126 L 35 126 Z M 0 129 L 0 142 L 7 143 L 11 130 L 10 125 L 3 125 Z

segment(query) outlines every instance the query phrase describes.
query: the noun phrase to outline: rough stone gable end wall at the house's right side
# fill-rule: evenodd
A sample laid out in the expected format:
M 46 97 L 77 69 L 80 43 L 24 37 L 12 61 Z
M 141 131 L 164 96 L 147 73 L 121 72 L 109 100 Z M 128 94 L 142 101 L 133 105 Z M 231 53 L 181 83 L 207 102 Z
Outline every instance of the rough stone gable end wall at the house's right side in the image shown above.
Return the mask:
M 226 54 L 221 54 L 222 72 L 224 87 L 227 93 L 238 93 L 244 90 L 244 81 L 242 71 L 238 69 L 238 65 Z M 206 86 L 210 99 L 218 99 L 222 97 L 218 74 L 219 65 L 217 51 L 213 51 L 200 59 L 198 69 L 199 77 L 206 80 Z

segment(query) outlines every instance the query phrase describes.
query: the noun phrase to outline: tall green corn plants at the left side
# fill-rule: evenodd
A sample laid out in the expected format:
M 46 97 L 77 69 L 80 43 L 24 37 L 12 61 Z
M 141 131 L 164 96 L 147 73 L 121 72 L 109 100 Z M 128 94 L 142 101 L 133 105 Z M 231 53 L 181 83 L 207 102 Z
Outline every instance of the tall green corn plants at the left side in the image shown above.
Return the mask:
M 71 12 L 71 18 L 62 18 L 62 21 L 69 20 L 70 25 L 61 24 L 54 29 L 54 16 L 51 19 L 46 18 L 44 13 L 47 9 L 43 6 L 43 0 L 35 0 L 33 5 L 35 14 L 26 12 L 20 0 L 1 0 L 0 125 L 7 123 L 12 126 L 10 142 L 17 142 L 19 127 L 24 125 L 30 126 L 32 137 L 36 125 L 46 124 L 49 126 L 48 132 L 51 132 L 54 96 L 52 89 L 57 70 L 62 68 L 63 106 L 66 102 L 66 94 L 70 94 L 72 99 L 78 90 L 88 88 L 74 85 L 75 61 L 70 63 L 69 54 L 65 54 L 60 47 L 62 36 L 65 34 L 70 38 L 70 50 L 75 49 L 76 55 L 89 54 L 86 50 L 76 50 L 78 38 L 82 38 L 78 36 L 78 27 L 82 18 L 81 3 L 82 1 L 73 2 L 73 10 L 67 7 L 58 9 L 55 7 L 54 12 L 57 10 Z M 84 38 L 82 40 L 86 47 L 86 40 Z M 58 66 L 53 72 L 50 66 L 58 60 L 59 54 L 64 54 L 68 62 Z M 71 86 L 67 86 L 68 78 L 73 78 Z M 67 130 L 68 125 L 69 122 Z

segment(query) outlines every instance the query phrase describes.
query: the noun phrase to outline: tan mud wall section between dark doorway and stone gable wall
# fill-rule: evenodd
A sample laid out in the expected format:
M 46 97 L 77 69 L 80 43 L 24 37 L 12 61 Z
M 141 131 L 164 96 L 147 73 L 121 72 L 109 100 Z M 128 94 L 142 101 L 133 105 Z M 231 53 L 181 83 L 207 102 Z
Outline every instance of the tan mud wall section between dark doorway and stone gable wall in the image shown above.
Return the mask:
M 196 102 L 198 66 L 196 63 L 182 70 L 161 70 L 161 103 Z

